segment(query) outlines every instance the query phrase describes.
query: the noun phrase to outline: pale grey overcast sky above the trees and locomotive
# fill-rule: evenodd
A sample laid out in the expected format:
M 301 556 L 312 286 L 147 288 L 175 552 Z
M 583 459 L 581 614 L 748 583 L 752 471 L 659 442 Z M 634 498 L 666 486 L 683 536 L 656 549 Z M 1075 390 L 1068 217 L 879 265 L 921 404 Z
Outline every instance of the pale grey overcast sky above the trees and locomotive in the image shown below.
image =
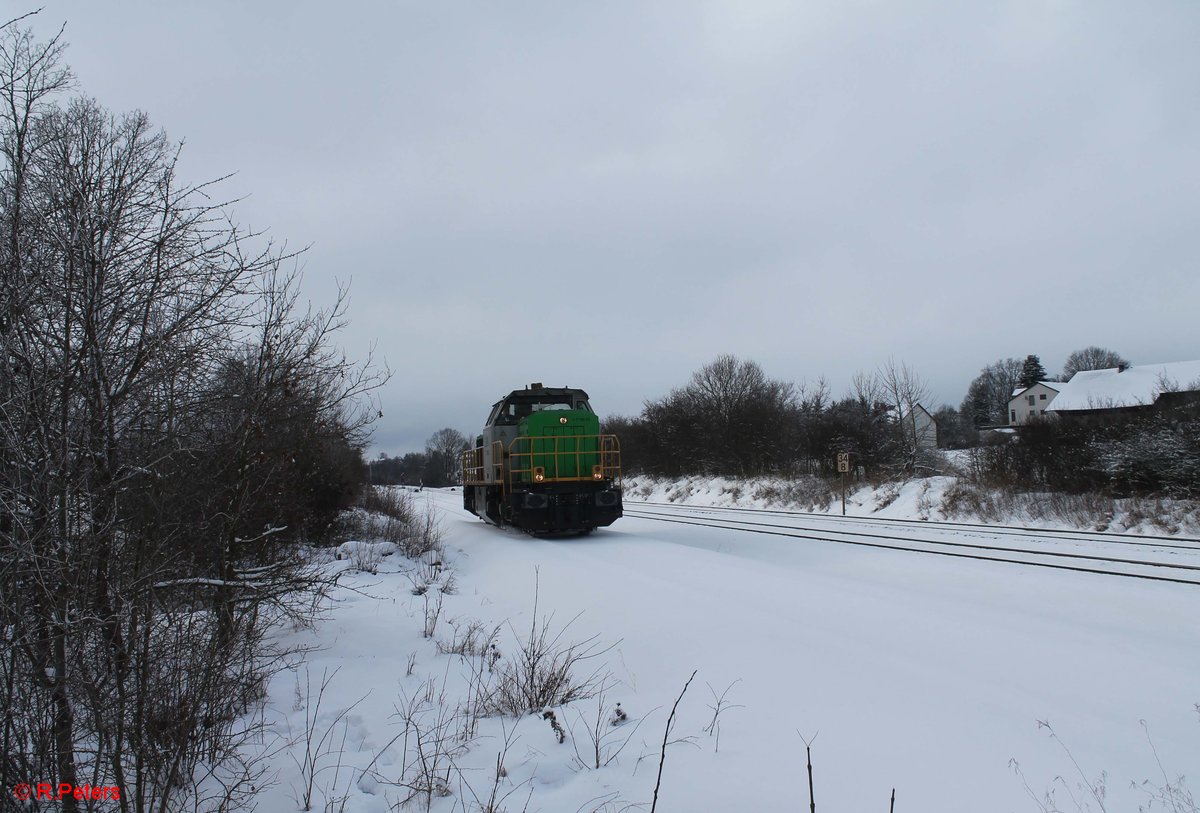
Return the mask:
M 722 353 L 835 395 L 890 356 L 931 408 L 1006 356 L 1200 359 L 1193 0 L 38 2 L 316 303 L 350 282 L 374 453 Z

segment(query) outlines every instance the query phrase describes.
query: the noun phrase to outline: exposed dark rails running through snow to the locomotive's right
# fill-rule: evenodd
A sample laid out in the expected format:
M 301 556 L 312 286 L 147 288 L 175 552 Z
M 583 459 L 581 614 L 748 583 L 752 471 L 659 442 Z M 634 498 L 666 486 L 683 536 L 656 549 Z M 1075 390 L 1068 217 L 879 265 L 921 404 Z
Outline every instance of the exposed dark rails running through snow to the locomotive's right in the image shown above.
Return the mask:
M 652 522 L 1200 586 L 1200 540 L 625 502 Z

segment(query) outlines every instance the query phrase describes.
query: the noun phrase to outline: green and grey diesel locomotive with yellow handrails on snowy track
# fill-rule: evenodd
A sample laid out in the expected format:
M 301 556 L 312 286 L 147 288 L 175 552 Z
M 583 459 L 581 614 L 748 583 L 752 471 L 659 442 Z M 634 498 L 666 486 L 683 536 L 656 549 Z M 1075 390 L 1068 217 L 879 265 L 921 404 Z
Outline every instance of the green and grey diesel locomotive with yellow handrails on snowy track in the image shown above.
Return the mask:
M 582 531 L 622 516 L 620 445 L 588 393 L 530 384 L 498 401 L 462 456 L 462 505 L 494 525 Z

